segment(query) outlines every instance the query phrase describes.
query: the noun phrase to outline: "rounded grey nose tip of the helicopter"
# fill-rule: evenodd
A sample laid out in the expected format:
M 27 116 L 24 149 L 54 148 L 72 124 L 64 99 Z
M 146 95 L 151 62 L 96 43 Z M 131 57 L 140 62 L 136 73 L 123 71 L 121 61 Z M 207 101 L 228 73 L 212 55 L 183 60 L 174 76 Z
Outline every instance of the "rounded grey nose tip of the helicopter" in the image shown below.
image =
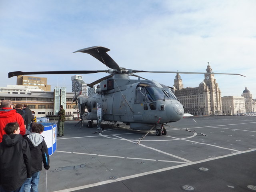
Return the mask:
M 170 122 L 175 122 L 183 118 L 184 109 L 181 104 L 169 104 L 166 107 L 166 115 L 170 118 Z

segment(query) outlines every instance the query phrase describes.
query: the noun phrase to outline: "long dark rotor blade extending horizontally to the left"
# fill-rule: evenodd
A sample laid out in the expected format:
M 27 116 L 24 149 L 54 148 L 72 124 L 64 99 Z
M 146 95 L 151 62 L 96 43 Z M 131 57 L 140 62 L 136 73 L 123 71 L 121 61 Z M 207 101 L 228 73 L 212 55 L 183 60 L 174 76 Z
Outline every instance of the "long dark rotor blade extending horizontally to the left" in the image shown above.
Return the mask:
M 38 75 L 38 74 L 90 74 L 90 73 L 107 73 L 108 70 L 98 70 L 98 71 L 35 71 L 35 72 L 22 72 L 22 71 L 13 71 L 8 73 L 8 78 L 18 75 Z

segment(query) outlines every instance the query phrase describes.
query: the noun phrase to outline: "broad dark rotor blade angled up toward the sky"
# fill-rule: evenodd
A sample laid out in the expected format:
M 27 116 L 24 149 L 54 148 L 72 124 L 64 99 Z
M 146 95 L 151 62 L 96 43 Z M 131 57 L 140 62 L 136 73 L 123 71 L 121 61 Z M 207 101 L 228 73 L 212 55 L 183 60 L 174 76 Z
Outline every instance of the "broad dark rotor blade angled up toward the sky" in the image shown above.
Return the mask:
M 76 53 L 76 52 L 88 53 L 91 56 L 98 59 L 103 64 L 105 64 L 106 66 L 108 66 L 109 68 L 121 70 L 118 64 L 106 53 L 108 51 L 110 51 L 110 49 L 108 48 L 105 48 L 102 46 L 93 46 L 93 47 L 77 50 L 73 53 Z

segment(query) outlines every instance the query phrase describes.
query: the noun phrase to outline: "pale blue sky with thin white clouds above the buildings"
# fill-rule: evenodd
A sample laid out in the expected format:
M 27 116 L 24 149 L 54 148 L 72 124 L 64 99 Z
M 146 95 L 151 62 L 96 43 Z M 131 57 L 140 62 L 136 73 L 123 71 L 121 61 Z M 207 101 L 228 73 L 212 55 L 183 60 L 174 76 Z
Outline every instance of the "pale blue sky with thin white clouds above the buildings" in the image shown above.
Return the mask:
M 119 66 L 134 70 L 205 72 L 208 62 L 222 96 L 256 98 L 255 0 L 0 0 L 0 87 L 12 71 L 106 70 L 89 54 L 109 48 Z M 71 76 L 46 77 L 53 90 L 72 91 Z M 86 83 L 108 74 L 81 74 Z M 176 74 L 137 74 L 173 86 Z M 204 74 L 180 74 L 198 87 Z M 134 77 L 131 77 L 134 78 Z

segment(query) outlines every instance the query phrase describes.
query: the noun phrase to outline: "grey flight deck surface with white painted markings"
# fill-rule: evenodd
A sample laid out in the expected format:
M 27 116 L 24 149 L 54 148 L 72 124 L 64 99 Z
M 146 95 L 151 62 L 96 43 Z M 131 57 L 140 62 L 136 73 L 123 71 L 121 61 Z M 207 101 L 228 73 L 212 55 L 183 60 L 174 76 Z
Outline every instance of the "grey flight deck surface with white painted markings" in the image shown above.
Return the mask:
M 77 123 L 65 122 L 40 192 L 46 178 L 48 192 L 256 191 L 256 117 L 183 118 L 139 144 L 146 131 Z

